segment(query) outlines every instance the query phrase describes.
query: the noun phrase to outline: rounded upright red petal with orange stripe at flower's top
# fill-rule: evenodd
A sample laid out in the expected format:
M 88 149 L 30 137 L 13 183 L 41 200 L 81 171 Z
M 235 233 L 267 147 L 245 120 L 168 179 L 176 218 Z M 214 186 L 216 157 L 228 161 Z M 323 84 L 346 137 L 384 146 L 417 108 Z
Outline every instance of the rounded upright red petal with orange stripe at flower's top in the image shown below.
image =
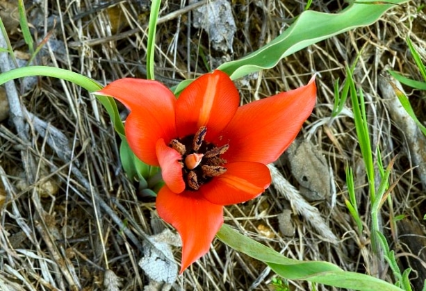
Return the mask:
M 177 101 L 179 137 L 207 126 L 206 140 L 214 138 L 234 117 L 239 103 L 238 90 L 227 74 L 215 70 L 200 76 L 181 92 Z

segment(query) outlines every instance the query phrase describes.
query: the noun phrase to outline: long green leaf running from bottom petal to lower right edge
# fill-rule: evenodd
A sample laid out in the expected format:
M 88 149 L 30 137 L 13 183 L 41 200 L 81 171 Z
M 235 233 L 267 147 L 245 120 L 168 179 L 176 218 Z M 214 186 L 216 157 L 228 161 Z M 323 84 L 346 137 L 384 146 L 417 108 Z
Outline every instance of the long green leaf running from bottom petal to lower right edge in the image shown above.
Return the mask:
M 366 274 L 345 272 L 340 267 L 331 263 L 287 258 L 281 255 L 281 253 L 232 230 L 226 224 L 220 228 L 216 236 L 236 251 L 263 261 L 274 272 L 279 274 L 279 276 L 289 280 L 306 280 L 352 290 L 402 290 L 395 285 Z

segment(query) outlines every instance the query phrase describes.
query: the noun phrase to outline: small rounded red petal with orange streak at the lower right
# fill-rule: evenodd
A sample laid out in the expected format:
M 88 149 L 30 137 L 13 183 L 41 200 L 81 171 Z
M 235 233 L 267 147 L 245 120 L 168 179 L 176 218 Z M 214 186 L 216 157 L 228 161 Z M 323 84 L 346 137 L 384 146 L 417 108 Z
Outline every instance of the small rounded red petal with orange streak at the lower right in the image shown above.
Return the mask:
M 228 163 L 224 167 L 227 172 L 199 189 L 211 203 L 227 206 L 245 202 L 258 197 L 271 183 L 270 171 L 261 163 Z

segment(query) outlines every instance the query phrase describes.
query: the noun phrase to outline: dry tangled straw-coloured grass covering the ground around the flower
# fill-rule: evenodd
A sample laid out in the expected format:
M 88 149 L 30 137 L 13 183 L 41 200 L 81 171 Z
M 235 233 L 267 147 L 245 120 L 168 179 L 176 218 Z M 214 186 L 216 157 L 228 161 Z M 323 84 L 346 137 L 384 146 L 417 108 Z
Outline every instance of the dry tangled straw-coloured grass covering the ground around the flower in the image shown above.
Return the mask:
M 104 84 L 124 76 L 145 78 L 149 1 L 96 2 L 28 1 L 33 36 L 40 42 L 51 32 L 50 38 L 57 40 L 44 47 L 36 62 L 71 69 Z M 312 9 L 334 12 L 341 8 L 339 3 L 343 5 L 343 1 L 314 1 Z M 382 232 L 400 267 L 411 266 L 411 277 L 420 276 L 413 281 L 414 290 L 420 290 L 426 269 L 426 185 L 413 169 L 407 154 L 410 145 L 386 107 L 379 79 L 386 65 L 421 79 L 404 42 L 408 34 L 426 60 L 426 10 L 417 10 L 421 3 L 415 0 L 395 7 L 372 26 L 320 42 L 245 83 L 237 82 L 246 103 L 299 87 L 314 72 L 320 73 L 318 103 L 302 136 L 316 144 L 331 168 L 330 196 L 310 204 L 338 241 L 324 238 L 316 224 L 297 214 L 295 202 L 287 201 L 274 187 L 259 199 L 227 207 L 227 223 L 290 258 L 326 260 L 393 281 L 386 263 L 372 253 L 370 233 L 357 233 L 344 203 L 344 169 L 350 165 L 363 223 L 370 224 L 366 174 L 350 104 L 330 121 L 334 81 L 345 78 L 344 65 L 351 64 L 362 50 L 354 78 L 366 95 L 373 147 L 381 149 L 385 166 L 399 153 L 391 183 L 400 180 L 391 193 L 391 203 L 385 203 L 382 210 Z M 234 53 L 222 53 L 210 47 L 205 31 L 191 27 L 188 10 L 179 10 L 182 3 L 163 3 L 156 40 L 158 80 L 175 85 L 207 72 L 222 59 L 245 56 L 288 25 L 281 19 L 299 15 L 304 7 L 299 1 L 279 0 L 233 4 Z M 9 32 L 17 55 L 25 57 L 22 34 L 16 29 Z M 64 47 L 57 49 L 54 44 Z M 154 200 L 140 197 L 135 183 L 124 176 L 118 140 L 104 108 L 88 92 L 54 78 L 38 78 L 28 90 L 16 84 L 31 115 L 24 115 L 28 126 L 23 132 L 17 133 L 10 122 L 0 123 L 0 203 L 6 195 L 0 208 L 0 290 L 143 290 L 149 279 L 138 267 L 142 242 L 169 226 L 156 217 Z M 424 122 L 424 92 L 406 89 Z M 277 168 L 297 187 L 286 165 L 277 164 Z M 285 210 L 293 211 L 286 223 L 293 224 L 294 235 L 291 229 L 290 236 L 280 231 L 279 215 Z M 407 217 L 396 222 L 397 215 Z M 180 260 L 180 248 L 173 250 Z M 179 276 L 173 288 L 271 290 L 274 277 L 263 263 L 214 241 L 211 251 Z M 290 282 L 290 290 L 312 288 L 305 282 Z M 318 285 L 316 290 L 335 288 Z

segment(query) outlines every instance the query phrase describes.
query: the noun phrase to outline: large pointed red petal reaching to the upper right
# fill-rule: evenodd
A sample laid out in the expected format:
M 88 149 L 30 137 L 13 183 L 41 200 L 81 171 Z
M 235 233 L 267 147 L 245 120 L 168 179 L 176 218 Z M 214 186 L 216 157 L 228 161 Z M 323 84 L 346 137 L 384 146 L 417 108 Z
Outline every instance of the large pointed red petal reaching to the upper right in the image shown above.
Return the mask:
M 238 108 L 216 144 L 229 144 L 222 155 L 229 163 L 263 164 L 277 160 L 296 138 L 316 102 L 315 78 L 301 88 Z

